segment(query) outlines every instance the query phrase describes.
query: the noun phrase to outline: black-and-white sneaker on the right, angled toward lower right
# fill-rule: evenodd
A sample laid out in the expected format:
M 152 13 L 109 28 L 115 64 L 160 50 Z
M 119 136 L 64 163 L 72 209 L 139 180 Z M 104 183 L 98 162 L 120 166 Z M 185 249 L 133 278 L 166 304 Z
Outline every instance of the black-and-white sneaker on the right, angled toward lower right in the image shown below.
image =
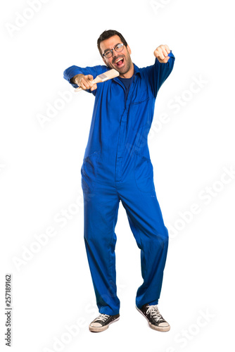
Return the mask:
M 170 330 L 170 325 L 165 321 L 162 315 L 160 315 L 157 305 L 149 306 L 149 304 L 144 304 L 144 306 L 137 308 L 137 310 L 139 310 L 139 313 L 144 315 L 146 320 L 148 320 L 148 325 L 151 327 L 151 329 L 161 332 Z

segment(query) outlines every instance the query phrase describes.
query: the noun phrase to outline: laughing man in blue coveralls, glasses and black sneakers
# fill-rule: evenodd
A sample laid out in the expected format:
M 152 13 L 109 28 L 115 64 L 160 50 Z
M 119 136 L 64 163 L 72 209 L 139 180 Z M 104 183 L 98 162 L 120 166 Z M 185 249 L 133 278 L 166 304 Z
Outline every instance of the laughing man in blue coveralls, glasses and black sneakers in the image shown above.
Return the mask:
M 155 63 L 138 68 L 119 32 L 103 32 L 97 45 L 106 65 L 71 66 L 64 72 L 65 80 L 73 87 L 82 87 L 96 97 L 81 169 L 84 241 L 100 313 L 89 329 L 101 332 L 120 317 L 115 225 L 122 201 L 141 249 L 144 283 L 136 294 L 136 308 L 152 329 L 168 331 L 170 325 L 158 310 L 168 232 L 155 194 L 147 137 L 155 98 L 172 71 L 174 55 L 167 45 L 160 45 L 154 51 Z M 92 82 L 111 68 L 120 76 L 100 84 Z

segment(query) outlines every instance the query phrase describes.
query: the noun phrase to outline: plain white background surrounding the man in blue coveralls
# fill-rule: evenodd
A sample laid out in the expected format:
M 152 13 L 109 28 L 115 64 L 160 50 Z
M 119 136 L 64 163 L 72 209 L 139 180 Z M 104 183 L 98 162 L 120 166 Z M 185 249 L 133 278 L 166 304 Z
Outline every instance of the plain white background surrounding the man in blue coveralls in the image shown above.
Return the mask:
M 30 0 L 4 2 L 1 351 L 7 348 L 6 273 L 13 277 L 11 351 L 192 352 L 234 345 L 232 4 L 44 0 L 32 10 Z M 84 249 L 80 168 L 94 96 L 73 93 L 63 70 L 102 64 L 96 40 L 108 29 L 124 35 L 139 67 L 154 62 L 160 44 L 176 57 L 149 134 L 155 189 L 170 231 L 159 301 L 171 325 L 165 334 L 150 329 L 134 306 L 140 253 L 121 203 L 115 231 L 120 321 L 101 334 L 88 329 L 98 310 Z M 67 101 L 58 101 L 60 94 Z M 53 118 L 46 115 L 49 106 L 56 106 Z M 56 222 L 66 210 L 70 219 Z M 44 245 L 37 240 L 42 234 Z

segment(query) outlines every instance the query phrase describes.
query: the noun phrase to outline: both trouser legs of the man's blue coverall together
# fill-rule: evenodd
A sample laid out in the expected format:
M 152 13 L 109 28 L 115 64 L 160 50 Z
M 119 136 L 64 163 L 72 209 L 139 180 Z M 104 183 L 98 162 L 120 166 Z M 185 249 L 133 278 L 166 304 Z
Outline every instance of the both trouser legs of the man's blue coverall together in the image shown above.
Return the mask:
M 84 239 L 99 312 L 116 315 L 120 310 L 115 272 L 115 225 L 120 201 L 141 249 L 144 282 L 137 291 L 136 306 L 157 304 L 167 256 L 168 232 L 154 186 L 147 191 L 139 189 L 133 182 L 134 168 L 122 182 L 101 184 L 96 181 L 95 185 L 91 184 L 87 169 L 86 172 L 82 172 Z

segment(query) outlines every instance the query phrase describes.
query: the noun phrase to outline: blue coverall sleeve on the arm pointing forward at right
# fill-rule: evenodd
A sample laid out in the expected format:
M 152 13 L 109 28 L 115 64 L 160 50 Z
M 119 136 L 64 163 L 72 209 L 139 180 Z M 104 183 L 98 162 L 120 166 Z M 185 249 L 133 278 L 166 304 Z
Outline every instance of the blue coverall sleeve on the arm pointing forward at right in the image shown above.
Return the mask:
M 168 56 L 170 56 L 170 58 L 167 63 L 160 63 L 158 59 L 155 58 L 154 65 L 146 67 L 146 78 L 151 85 L 154 96 L 157 96 L 161 85 L 172 72 L 174 66 L 174 55 L 172 54 L 172 51 L 170 51 Z

